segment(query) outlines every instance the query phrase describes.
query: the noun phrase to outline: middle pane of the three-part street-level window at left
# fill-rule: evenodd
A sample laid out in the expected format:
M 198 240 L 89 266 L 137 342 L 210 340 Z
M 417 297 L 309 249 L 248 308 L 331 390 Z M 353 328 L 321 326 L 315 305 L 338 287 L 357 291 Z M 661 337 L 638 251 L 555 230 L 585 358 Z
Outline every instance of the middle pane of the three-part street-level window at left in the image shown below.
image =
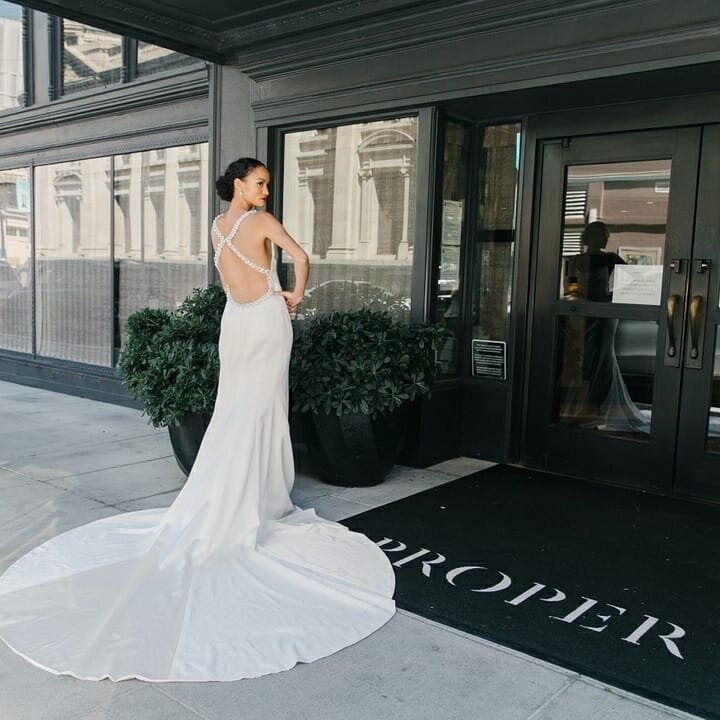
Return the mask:
M 110 158 L 35 171 L 37 352 L 111 364 Z

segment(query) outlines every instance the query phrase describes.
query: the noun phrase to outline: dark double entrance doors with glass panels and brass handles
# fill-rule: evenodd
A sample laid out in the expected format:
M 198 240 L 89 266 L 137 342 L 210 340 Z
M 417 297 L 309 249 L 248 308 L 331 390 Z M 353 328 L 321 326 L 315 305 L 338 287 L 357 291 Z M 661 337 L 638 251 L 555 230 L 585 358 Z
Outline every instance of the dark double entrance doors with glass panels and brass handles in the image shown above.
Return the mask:
M 720 499 L 720 125 L 538 161 L 524 462 Z

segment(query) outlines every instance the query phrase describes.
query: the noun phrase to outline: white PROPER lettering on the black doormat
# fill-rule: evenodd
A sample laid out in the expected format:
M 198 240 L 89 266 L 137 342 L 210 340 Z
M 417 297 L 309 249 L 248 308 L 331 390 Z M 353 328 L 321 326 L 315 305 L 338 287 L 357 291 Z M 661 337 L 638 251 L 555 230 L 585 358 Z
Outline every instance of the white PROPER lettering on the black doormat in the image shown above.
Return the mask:
M 416 552 L 400 555 L 408 549 L 405 543 L 386 537 L 379 540 L 376 544 L 391 556 L 393 567 L 399 568 L 419 564 L 420 570 L 425 577 L 431 577 L 433 571 L 435 571 L 433 576 L 444 574 L 445 581 L 458 589 L 468 589 L 474 593 L 500 593 L 513 585 L 513 580 L 507 573 L 499 570 L 491 570 L 483 565 L 463 565 L 448 569 L 447 558 L 427 548 L 420 548 L 420 550 Z M 438 567 L 440 565 L 445 565 L 445 567 Z M 461 588 L 457 585 L 455 581 L 464 575 L 467 576 L 466 579 L 468 581 L 472 578 L 472 586 Z M 515 588 L 515 590 L 517 590 L 517 588 Z M 523 589 L 522 592 L 515 594 L 513 597 L 509 599 L 503 598 L 503 602 L 513 607 L 520 607 L 529 601 L 562 603 L 568 599 L 562 590 L 548 587 L 544 583 L 533 582 L 530 587 Z M 625 615 L 627 612 L 624 607 L 613 605 L 612 603 L 602 603 L 594 598 L 581 596 L 580 600 L 581 602 L 570 608 L 563 607 L 562 611 L 567 609 L 564 615 L 561 611 L 557 614 L 548 615 L 548 618 L 557 622 L 566 623 L 567 625 L 577 624 L 577 626 L 583 630 L 601 633 L 612 626 L 613 618 Z M 600 610 L 600 612 L 598 612 L 598 610 Z M 683 628 L 668 620 L 662 621 L 661 623 L 659 618 L 652 615 L 644 614 L 642 618 L 631 633 L 620 639 L 631 645 L 638 646 L 641 641 L 650 642 L 652 639 L 660 640 L 668 653 L 680 660 L 685 659 L 675 642 L 685 637 L 686 633 Z M 653 630 L 658 623 L 661 623 L 661 625 L 657 629 L 664 632 L 658 632 L 657 629 Z M 670 628 L 669 631 L 667 630 L 668 627 Z M 653 630 L 653 632 L 650 632 L 651 630 Z

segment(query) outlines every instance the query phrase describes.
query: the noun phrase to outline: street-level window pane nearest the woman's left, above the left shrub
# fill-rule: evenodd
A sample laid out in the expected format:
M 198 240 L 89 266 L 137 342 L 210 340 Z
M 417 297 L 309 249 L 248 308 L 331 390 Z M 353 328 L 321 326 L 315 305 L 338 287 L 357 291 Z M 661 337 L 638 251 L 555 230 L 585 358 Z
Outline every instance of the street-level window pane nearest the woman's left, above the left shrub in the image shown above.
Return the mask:
M 206 143 L 116 156 L 116 351 L 129 315 L 174 309 L 207 284 L 207 186 Z

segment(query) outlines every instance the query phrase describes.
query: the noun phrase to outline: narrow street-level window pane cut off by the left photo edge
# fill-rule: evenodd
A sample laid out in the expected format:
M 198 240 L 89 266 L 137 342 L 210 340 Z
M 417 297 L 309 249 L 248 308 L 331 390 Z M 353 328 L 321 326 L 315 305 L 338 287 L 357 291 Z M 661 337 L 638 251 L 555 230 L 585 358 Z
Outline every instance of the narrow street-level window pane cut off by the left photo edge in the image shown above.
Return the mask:
M 32 352 L 28 171 L 0 171 L 0 348 Z

